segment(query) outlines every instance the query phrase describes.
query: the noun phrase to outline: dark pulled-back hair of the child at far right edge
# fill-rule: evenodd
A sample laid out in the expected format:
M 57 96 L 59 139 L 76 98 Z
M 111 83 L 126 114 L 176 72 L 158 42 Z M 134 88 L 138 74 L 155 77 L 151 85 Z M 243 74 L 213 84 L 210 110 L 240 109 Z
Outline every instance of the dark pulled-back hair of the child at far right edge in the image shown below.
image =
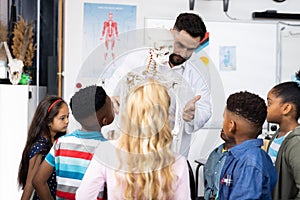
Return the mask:
M 288 81 L 274 86 L 272 94 L 281 98 L 282 103 L 294 104 L 296 106 L 296 119 L 298 120 L 300 117 L 300 70 L 295 73 L 295 81 Z

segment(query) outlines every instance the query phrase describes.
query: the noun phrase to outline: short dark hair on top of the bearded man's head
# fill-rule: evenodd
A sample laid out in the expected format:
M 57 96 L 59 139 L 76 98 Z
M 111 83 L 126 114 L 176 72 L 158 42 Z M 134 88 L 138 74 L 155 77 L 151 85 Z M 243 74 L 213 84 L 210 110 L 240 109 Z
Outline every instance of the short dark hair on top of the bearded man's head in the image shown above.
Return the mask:
M 184 30 L 192 37 L 205 37 L 206 26 L 199 15 L 193 13 L 181 13 L 175 22 L 174 29 Z

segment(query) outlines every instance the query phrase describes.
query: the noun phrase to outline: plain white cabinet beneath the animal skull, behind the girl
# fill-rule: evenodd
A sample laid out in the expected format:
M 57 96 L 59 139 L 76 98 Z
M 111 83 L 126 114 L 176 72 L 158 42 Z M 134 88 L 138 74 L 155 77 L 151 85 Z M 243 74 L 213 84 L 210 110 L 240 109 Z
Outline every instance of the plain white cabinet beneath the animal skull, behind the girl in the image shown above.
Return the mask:
M 39 87 L 39 101 L 46 87 Z M 29 124 L 37 107 L 37 87 L 0 84 L 0 199 L 20 199 L 17 177 Z

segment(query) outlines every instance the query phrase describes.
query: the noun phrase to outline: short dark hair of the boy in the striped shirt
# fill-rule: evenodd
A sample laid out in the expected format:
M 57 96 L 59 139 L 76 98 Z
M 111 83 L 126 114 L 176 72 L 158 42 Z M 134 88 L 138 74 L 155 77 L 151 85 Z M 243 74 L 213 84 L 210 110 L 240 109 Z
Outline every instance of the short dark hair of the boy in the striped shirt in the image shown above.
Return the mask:
M 70 108 L 74 118 L 81 122 L 98 110 L 105 104 L 107 94 L 101 86 L 88 86 L 76 92 L 70 101 Z

